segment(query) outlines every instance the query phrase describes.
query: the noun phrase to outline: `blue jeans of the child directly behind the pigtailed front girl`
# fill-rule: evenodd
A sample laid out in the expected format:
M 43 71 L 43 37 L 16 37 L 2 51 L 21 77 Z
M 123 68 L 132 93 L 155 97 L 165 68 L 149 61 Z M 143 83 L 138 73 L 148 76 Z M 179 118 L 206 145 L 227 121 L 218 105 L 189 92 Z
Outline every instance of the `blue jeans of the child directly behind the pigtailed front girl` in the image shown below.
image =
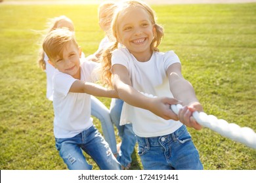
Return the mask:
M 127 167 L 127 165 L 131 163 L 131 154 L 133 154 L 135 148 L 136 136 L 133 132 L 132 124 L 119 124 L 122 108 L 123 101 L 121 99 L 112 99 L 110 103 L 110 117 L 112 122 L 116 125 L 118 135 L 121 137 L 122 141 L 120 147 L 121 152 L 119 152 L 119 156 L 117 156 L 117 161 L 119 161 L 123 167 Z

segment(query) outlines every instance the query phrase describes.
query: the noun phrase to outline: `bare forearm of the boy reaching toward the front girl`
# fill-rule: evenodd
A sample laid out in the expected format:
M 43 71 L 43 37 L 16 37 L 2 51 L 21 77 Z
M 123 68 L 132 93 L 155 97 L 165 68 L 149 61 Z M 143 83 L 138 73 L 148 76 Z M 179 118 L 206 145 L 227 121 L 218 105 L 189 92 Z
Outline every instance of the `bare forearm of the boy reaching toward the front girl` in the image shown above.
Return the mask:
M 107 88 L 104 88 L 98 84 L 94 84 L 92 82 L 82 82 L 81 80 L 75 80 L 70 87 L 69 92 L 88 93 L 90 95 L 95 95 L 96 97 L 119 98 L 116 90 L 108 90 Z

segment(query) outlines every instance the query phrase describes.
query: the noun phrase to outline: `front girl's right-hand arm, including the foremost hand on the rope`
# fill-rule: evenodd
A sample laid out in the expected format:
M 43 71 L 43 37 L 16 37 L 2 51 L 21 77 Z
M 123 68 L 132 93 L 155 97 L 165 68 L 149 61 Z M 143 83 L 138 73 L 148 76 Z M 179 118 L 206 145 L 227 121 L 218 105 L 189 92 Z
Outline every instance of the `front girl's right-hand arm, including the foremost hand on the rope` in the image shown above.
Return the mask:
M 192 117 L 192 113 L 196 110 L 202 111 L 203 107 L 196 98 L 196 93 L 193 86 L 185 80 L 181 74 L 181 64 L 174 63 L 167 69 L 167 75 L 169 77 L 169 85 L 173 96 L 180 101 L 183 105 L 186 105 L 179 111 L 179 120 L 188 127 L 194 127 L 195 129 L 201 129 L 196 120 Z

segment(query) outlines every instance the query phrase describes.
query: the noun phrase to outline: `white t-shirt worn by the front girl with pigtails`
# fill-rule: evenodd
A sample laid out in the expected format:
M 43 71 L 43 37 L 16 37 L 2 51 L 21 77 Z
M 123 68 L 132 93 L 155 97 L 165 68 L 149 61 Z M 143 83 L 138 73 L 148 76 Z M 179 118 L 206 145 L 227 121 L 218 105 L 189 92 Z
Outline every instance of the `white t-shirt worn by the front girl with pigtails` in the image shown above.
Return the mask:
M 112 65 L 121 64 L 127 68 L 133 88 L 157 97 L 173 97 L 166 73 L 173 63 L 180 63 L 173 51 L 154 52 L 146 62 L 137 61 L 127 48 L 119 48 L 112 53 Z M 149 110 L 124 103 L 120 124 L 127 123 L 133 123 L 133 131 L 139 137 L 167 135 L 182 126 L 179 121 L 164 120 Z

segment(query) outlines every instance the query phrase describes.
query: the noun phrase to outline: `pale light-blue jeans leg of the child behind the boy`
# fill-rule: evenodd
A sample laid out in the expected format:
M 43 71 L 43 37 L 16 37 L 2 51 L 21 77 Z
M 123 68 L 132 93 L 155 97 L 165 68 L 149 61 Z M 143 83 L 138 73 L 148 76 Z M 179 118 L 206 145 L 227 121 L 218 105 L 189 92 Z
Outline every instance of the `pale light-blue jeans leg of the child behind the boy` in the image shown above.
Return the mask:
M 112 152 L 117 154 L 116 135 L 110 118 L 110 110 L 93 95 L 91 95 L 91 115 L 100 120 L 104 139 L 108 142 Z

